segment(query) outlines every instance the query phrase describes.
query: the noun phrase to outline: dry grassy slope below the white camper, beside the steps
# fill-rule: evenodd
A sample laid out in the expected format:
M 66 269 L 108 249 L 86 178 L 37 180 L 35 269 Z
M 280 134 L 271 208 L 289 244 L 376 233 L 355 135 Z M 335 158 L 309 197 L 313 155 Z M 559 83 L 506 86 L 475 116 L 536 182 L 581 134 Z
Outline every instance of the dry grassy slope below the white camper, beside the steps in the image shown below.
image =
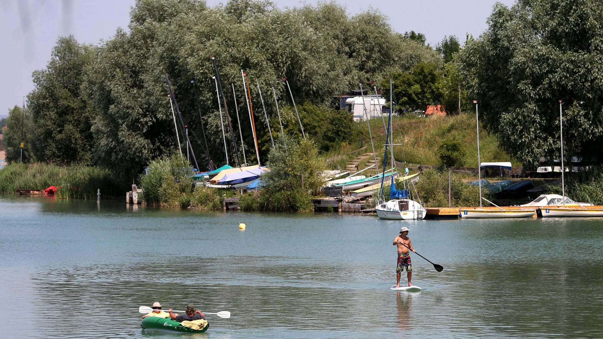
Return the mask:
M 387 124 L 387 119 L 386 119 Z M 478 147 L 477 131 L 475 128 L 475 116 L 472 114 L 461 114 L 453 116 L 430 116 L 418 118 L 412 116 L 394 117 L 393 143 L 402 144 L 394 146 L 394 158 L 397 161 L 418 163 L 421 165 L 439 165 L 437 150 L 444 139 L 455 139 L 463 145 L 466 158 L 465 166 L 477 166 Z M 358 122 L 361 136 L 359 142 L 342 145 L 339 150 L 324 154 L 327 166 L 332 169 L 344 169 L 348 160 L 353 159 L 358 153 L 371 152 L 370 140 L 368 139 L 368 126 L 366 122 Z M 385 128 L 381 119 L 371 121 L 371 133 L 375 151 L 379 161 L 383 161 Z M 362 142 L 364 141 L 364 142 Z M 480 127 L 479 151 L 482 162 L 510 161 L 513 166 L 521 166 L 521 163 L 513 156 L 505 153 L 499 145 L 496 137 L 488 134 Z M 357 150 L 361 146 L 368 146 L 361 152 L 347 154 Z M 389 151 L 388 151 L 389 153 Z M 361 163 L 360 168 L 365 162 Z M 379 165 L 380 167 L 381 165 Z

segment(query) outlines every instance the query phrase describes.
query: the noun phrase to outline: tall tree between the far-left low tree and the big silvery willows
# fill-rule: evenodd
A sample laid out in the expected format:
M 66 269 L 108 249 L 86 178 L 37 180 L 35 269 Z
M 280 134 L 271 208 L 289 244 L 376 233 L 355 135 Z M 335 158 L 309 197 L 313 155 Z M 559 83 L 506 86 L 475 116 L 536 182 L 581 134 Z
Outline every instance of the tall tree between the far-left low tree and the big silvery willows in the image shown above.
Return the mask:
M 52 49 L 46 69 L 33 73 L 34 90 L 28 95 L 36 128 L 34 151 L 40 160 L 90 163 L 94 110 L 81 92 L 94 48 L 73 36 L 61 37 Z

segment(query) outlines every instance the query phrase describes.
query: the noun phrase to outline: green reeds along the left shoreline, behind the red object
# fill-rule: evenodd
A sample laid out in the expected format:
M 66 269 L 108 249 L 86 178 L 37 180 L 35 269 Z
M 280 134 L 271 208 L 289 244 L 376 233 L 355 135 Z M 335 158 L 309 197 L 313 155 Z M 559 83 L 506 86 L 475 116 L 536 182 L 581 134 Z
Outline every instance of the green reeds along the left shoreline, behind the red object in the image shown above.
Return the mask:
M 104 168 L 72 165 L 57 166 L 45 163 L 11 164 L 0 170 L 0 193 L 14 194 L 17 189 L 45 189 L 56 186 L 58 198 L 95 199 L 96 189 L 101 197 L 121 196 L 125 186 Z

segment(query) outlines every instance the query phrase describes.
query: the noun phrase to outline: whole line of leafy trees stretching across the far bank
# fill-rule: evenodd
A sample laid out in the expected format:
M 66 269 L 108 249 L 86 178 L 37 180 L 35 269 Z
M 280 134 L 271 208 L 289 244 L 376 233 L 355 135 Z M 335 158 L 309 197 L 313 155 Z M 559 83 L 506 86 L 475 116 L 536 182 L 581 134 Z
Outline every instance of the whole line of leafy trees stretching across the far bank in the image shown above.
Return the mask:
M 231 165 L 240 162 L 235 142 L 239 159 L 245 151 L 248 163 L 262 162 L 272 147 L 268 124 L 277 136 L 301 134 L 301 122 L 323 150 L 349 141 L 351 117 L 330 108 L 333 96 L 361 82 L 364 88 L 376 83 L 388 97 L 390 77 L 398 112 L 442 104 L 446 112 L 459 113 L 474 110 L 477 100 L 484 127 L 526 163 L 558 156 L 562 100 L 567 153 L 603 159 L 589 147 L 603 138 L 600 4 L 497 4 L 484 34 L 468 35 L 463 48 L 455 36 L 432 48 L 423 34 L 393 31 L 379 11 L 348 16 L 335 2 L 280 10 L 269 1 L 208 7 L 195 0 L 138 0 L 128 32 L 118 30 L 98 45 L 57 40 L 46 68 L 33 74 L 25 111 L 10 110 L 7 160 L 18 159 L 24 142 L 31 162 L 106 166 L 135 177 L 151 160 L 178 152 L 165 74 L 200 170 L 210 161 L 224 164 L 226 152 Z M 212 55 L 232 124 L 232 133 L 224 130 L 226 150 L 226 107 L 218 107 Z M 184 132 L 178 133 L 186 150 Z

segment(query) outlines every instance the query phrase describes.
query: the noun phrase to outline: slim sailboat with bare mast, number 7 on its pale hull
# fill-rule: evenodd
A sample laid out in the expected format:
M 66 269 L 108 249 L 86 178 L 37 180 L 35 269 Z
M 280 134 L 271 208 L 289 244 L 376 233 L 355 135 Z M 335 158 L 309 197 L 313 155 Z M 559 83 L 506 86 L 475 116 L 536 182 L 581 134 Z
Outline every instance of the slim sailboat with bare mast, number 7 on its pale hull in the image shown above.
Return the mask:
M 482 169 L 479 162 L 479 118 L 478 118 L 478 101 L 473 100 L 475 104 L 475 122 L 478 131 L 478 183 L 479 183 L 479 207 L 461 207 L 459 215 L 461 218 L 525 218 L 533 217 L 536 213 L 535 209 L 505 207 L 502 208 L 490 200 L 482 197 Z M 496 207 L 482 207 L 482 200 L 488 201 Z

